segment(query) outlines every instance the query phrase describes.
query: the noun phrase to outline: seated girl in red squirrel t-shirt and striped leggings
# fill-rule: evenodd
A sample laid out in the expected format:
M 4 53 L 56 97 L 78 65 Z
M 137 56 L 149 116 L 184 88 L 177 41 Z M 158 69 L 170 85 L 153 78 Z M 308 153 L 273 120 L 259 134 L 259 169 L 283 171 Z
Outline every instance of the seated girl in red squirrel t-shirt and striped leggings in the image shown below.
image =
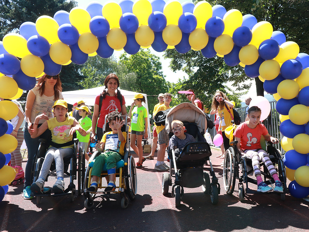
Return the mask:
M 234 132 L 235 139 L 238 141 L 236 147 L 241 155 L 246 155 L 252 159 L 252 166 L 257 180 L 257 191 L 269 192 L 273 189 L 269 187 L 261 177 L 260 159 L 263 161 L 270 175 L 275 180 L 275 192 L 283 192 L 283 185 L 278 178 L 277 171 L 269 159 L 269 155 L 261 148 L 260 138 L 264 136 L 266 141 L 277 144 L 279 141 L 271 137 L 266 127 L 260 123 L 261 110 L 257 106 L 252 106 L 248 110 L 246 121 L 241 123 Z

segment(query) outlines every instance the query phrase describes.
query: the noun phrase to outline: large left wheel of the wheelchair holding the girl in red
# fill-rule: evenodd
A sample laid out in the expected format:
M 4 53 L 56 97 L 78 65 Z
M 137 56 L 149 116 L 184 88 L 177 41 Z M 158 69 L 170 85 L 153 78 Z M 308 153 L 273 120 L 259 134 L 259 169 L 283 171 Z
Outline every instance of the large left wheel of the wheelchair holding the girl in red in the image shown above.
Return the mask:
M 232 195 L 236 182 L 236 158 L 234 148 L 226 150 L 223 162 L 223 183 L 227 194 Z

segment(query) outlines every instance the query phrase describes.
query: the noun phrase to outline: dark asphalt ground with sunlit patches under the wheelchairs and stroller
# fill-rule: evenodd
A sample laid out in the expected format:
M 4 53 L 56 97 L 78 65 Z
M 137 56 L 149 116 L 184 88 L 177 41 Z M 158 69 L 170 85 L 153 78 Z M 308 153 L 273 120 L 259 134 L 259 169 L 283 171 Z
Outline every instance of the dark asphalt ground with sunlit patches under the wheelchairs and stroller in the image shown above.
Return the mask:
M 223 189 L 222 159 L 212 148 L 211 160 L 219 178 L 221 193 L 217 205 L 201 187 L 184 188 L 180 207 L 175 207 L 171 188 L 162 195 L 162 172 L 153 169 L 155 160 L 146 160 L 138 174 L 138 194 L 121 208 L 120 195 L 103 196 L 95 200 L 94 208 L 84 208 L 84 197 L 44 197 L 40 205 L 36 199 L 23 200 L 23 185 L 10 185 L 0 202 L 0 231 L 308 231 L 309 202 L 286 195 L 246 195 L 238 198 L 238 180 L 235 192 L 227 195 Z M 136 155 L 134 154 L 135 160 Z M 23 168 L 26 160 L 23 160 Z M 45 184 L 52 186 L 55 177 Z M 65 178 L 66 186 L 69 178 Z M 77 183 L 75 183 L 77 185 Z M 254 188 L 254 186 L 252 186 Z

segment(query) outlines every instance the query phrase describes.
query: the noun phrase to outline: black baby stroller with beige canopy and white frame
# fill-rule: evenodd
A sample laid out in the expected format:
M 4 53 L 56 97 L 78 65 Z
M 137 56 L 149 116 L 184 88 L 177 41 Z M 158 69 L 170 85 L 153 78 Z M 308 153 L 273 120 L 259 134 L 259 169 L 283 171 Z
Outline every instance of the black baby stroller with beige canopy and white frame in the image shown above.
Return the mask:
M 187 133 L 191 134 L 197 142 L 187 144 L 181 155 L 176 158 L 170 139 L 167 153 L 170 157 L 171 168 L 169 173 L 163 173 L 162 193 L 166 195 L 169 186 L 172 186 L 171 195 L 175 197 L 175 205 L 178 207 L 180 206 L 180 198 L 184 195 L 184 187 L 202 186 L 203 192 L 210 195 L 212 204 L 218 204 L 220 185 L 211 164 L 210 146 L 203 137 L 207 129 L 205 114 L 191 103 L 185 102 L 176 105 L 168 112 L 165 119 L 165 129 L 169 133 L 169 138 L 173 135 L 171 122 L 176 119 L 184 123 Z M 204 166 L 206 162 L 209 162 L 210 168 Z M 172 168 L 174 172 L 172 172 Z M 211 183 L 209 174 L 205 170 L 208 170 L 212 176 Z M 175 178 L 174 184 L 172 184 L 172 177 Z

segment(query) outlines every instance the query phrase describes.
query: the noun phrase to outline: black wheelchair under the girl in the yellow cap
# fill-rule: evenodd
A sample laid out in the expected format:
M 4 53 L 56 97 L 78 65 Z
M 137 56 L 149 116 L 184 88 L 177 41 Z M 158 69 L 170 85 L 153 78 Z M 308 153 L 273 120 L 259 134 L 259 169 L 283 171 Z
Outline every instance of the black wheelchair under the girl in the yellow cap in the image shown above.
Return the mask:
M 50 138 L 51 138 L 51 135 L 50 135 Z M 32 164 L 32 172 L 31 172 L 32 183 L 35 182 L 39 178 L 40 170 L 42 168 L 43 161 L 44 161 L 44 157 L 49 148 L 49 140 L 39 139 L 39 141 L 40 141 L 40 145 L 34 157 L 35 162 Z M 83 180 L 85 176 L 85 150 L 82 150 L 82 148 L 79 148 L 79 150 L 77 149 L 78 139 L 76 139 L 76 133 L 73 134 L 73 140 L 68 143 L 74 144 L 72 155 L 65 157 L 63 159 L 64 174 L 70 177 L 69 186 L 64 190 L 64 193 L 60 193 L 60 194 L 51 194 L 51 190 L 49 190 L 48 192 L 44 192 L 43 194 L 33 194 L 32 193 L 31 196 L 36 197 L 37 204 L 41 203 L 42 197 L 46 197 L 46 196 L 56 197 L 56 196 L 63 196 L 63 195 L 69 195 L 70 202 L 73 202 L 74 195 L 76 193 L 76 186 L 74 184 L 74 180 L 76 179 L 78 181 L 78 195 L 82 194 L 82 191 L 84 189 Z M 66 143 L 66 145 L 70 145 L 70 144 Z M 52 165 L 50 166 L 49 174 L 46 177 L 46 181 L 48 177 L 55 172 L 56 172 L 56 164 L 55 164 L 55 161 L 53 161 Z

